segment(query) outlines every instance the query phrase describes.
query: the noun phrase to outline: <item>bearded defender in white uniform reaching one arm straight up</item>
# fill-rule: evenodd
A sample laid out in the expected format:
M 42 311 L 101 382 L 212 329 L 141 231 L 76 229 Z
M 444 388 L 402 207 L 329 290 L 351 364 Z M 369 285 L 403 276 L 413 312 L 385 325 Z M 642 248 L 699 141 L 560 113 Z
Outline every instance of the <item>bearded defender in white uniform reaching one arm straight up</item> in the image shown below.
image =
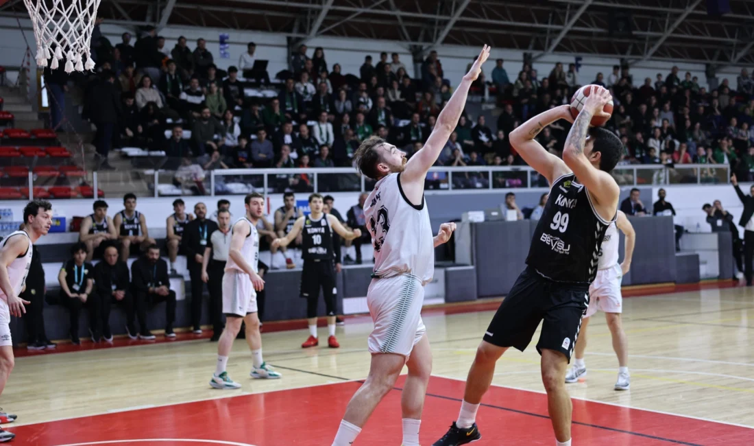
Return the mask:
M 458 124 L 472 82 L 489 47 L 446 104 L 427 143 L 406 160 L 406 153 L 379 137 L 361 143 L 354 161 L 366 177 L 378 180 L 366 198 L 366 229 L 372 235 L 375 267 L 366 292 L 374 331 L 369 335 L 369 377 L 348 403 L 333 446 L 353 444 L 379 401 L 393 389 L 403 365 L 409 368 L 403 396 L 403 446 L 418 446 L 421 411 L 432 369 L 432 354 L 421 321 L 424 285 L 434 273 L 434 247 L 449 240 L 454 223 L 443 223 L 432 238 L 424 197 L 427 171 Z

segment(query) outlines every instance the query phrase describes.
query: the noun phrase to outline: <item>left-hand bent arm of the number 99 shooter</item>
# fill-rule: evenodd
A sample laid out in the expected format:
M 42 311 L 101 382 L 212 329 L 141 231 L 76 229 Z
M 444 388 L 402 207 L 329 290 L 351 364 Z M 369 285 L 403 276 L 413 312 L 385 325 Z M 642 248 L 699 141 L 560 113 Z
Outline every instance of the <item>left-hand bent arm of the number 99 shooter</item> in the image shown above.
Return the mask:
M 510 146 L 516 149 L 516 152 L 521 155 L 521 158 L 526 161 L 527 165 L 547 178 L 547 182 L 550 184 L 559 177 L 562 177 L 562 175 L 570 174 L 571 171 L 562 159 L 547 152 L 547 149 L 542 147 L 535 140 L 535 137 L 537 137 L 543 128 L 559 119 L 571 121 L 569 107 L 568 105 L 559 106 L 542 112 L 518 126 L 516 130 L 510 132 L 510 135 L 508 135 Z

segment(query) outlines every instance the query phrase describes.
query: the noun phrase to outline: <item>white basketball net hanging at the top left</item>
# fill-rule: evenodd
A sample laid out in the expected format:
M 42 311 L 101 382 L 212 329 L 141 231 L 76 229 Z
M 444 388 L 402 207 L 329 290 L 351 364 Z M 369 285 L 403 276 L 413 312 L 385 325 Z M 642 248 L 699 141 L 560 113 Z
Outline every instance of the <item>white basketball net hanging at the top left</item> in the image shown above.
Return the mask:
M 66 72 L 94 69 L 90 40 L 100 0 L 23 0 L 34 27 L 37 65 L 57 69 L 66 57 Z M 86 63 L 83 62 L 86 57 Z

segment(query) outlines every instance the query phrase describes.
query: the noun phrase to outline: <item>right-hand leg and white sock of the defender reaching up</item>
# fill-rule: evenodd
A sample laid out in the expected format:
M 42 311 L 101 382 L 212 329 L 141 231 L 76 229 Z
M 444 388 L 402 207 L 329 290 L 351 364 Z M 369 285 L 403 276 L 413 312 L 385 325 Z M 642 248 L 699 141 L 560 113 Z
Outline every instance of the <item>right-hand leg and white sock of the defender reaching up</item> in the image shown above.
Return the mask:
M 424 409 L 427 385 L 432 373 L 432 350 L 425 333 L 424 324 L 421 325 L 421 337 L 411 350 L 411 356 L 406 361 L 409 374 L 403 384 L 400 394 L 400 409 L 403 417 L 403 446 L 419 446 L 419 426 L 421 411 Z

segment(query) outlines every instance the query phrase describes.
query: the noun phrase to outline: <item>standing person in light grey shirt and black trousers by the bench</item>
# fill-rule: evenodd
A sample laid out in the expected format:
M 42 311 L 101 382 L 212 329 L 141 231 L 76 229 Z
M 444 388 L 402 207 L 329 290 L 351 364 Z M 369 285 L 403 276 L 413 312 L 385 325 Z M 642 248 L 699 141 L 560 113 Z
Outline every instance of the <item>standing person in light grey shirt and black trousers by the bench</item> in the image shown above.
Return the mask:
M 201 280 L 210 289 L 210 319 L 213 330 L 210 342 L 217 342 L 222 334 L 222 275 L 225 273 L 225 262 L 228 261 L 232 238 L 230 211 L 220 209 L 217 211 L 216 219 L 219 227 L 210 235 L 201 262 Z

